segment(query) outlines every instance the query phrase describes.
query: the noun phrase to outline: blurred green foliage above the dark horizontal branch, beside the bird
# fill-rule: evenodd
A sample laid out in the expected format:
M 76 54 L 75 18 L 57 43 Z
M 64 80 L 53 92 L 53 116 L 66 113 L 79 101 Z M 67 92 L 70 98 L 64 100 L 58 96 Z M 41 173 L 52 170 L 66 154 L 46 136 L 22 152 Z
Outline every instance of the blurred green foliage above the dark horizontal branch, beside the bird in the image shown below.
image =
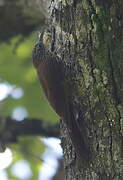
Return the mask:
M 7 98 L 3 103 L 2 112 L 5 115 L 11 115 L 15 107 L 22 106 L 27 109 L 29 117 L 56 121 L 58 117 L 43 94 L 32 64 L 34 35 L 20 44 L 18 44 L 19 39 L 20 37 L 15 37 L 8 44 L 0 45 L 0 78 L 1 81 L 23 88 L 24 96 L 16 100 Z

